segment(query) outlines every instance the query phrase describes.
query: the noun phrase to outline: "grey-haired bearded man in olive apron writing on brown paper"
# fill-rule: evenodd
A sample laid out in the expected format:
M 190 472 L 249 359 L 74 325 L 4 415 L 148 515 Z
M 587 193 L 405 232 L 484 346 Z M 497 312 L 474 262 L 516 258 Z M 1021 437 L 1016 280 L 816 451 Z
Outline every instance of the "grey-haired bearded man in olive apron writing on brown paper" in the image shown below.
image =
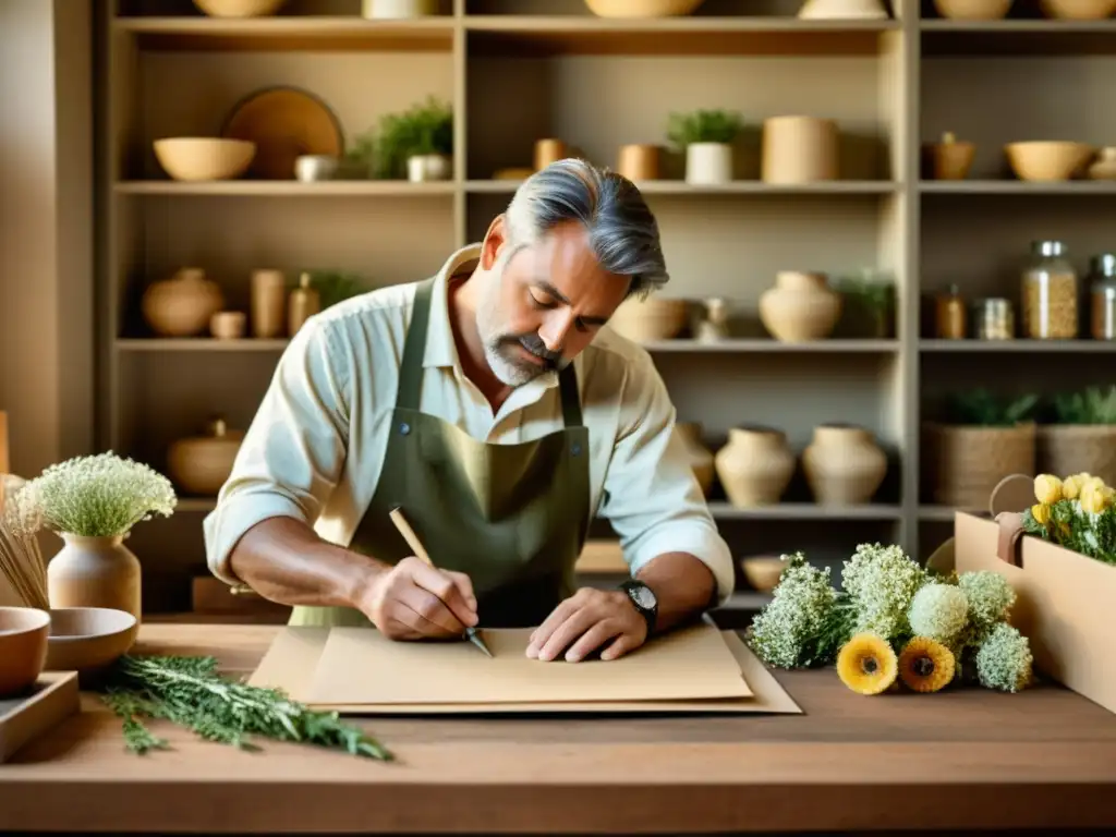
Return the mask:
M 631 182 L 577 160 L 536 173 L 437 276 L 299 329 L 205 520 L 211 570 L 292 624 L 531 626 L 538 660 L 612 660 L 723 602 L 731 556 L 665 386 L 606 327 L 666 279 Z M 616 590 L 575 589 L 594 513 L 631 567 Z

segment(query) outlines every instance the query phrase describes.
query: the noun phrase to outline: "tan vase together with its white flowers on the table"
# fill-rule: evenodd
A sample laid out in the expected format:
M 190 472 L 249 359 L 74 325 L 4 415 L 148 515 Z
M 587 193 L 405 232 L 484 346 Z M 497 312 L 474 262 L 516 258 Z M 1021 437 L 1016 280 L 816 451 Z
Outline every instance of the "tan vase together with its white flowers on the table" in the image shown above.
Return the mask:
M 50 606 L 110 607 L 140 619 L 140 561 L 124 539 L 136 523 L 174 512 L 171 481 L 109 451 L 50 465 L 32 484 L 45 526 L 65 541 L 47 566 Z

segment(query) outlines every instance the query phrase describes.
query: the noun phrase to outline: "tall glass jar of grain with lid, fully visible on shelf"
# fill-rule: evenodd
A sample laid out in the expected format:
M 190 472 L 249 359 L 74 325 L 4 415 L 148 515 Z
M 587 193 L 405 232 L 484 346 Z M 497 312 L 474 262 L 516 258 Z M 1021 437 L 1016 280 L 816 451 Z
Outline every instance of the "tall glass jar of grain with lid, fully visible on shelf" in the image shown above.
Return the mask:
M 1077 337 L 1078 280 L 1061 241 L 1035 241 L 1023 270 L 1022 333 L 1035 340 Z

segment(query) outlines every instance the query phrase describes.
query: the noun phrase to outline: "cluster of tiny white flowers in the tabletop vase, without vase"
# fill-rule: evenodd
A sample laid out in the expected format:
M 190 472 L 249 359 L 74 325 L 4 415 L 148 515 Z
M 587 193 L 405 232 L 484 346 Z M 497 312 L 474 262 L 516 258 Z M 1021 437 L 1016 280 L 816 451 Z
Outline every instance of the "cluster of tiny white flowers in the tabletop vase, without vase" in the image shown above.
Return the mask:
M 155 514 L 170 517 L 177 502 L 170 480 L 112 451 L 50 465 L 32 484 L 46 526 L 86 538 L 125 535 Z

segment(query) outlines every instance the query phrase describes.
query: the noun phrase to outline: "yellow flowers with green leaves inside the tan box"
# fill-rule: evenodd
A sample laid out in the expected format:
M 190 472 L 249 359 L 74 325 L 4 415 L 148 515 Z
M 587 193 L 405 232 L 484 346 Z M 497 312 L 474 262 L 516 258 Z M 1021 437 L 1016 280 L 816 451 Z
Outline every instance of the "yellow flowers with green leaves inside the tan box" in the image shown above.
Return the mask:
M 1042 540 L 1116 565 L 1116 489 L 1099 477 L 1035 478 L 1037 502 L 1023 512 L 1023 530 Z

